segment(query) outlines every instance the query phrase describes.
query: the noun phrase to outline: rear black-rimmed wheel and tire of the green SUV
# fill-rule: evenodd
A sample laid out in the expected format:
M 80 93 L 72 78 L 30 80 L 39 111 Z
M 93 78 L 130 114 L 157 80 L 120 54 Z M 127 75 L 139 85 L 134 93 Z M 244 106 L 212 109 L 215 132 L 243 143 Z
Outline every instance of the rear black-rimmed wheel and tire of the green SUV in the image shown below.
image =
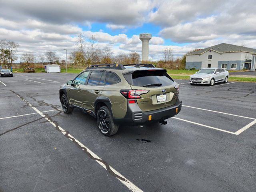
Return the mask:
M 107 106 L 102 106 L 97 111 L 97 124 L 100 132 L 105 136 L 116 134 L 119 126 L 114 123 L 114 118 Z

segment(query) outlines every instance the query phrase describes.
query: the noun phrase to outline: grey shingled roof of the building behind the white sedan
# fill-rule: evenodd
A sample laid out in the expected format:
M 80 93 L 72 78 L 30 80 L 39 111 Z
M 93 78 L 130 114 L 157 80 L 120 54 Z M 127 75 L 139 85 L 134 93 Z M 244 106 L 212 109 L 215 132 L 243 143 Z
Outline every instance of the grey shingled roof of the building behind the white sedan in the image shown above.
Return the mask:
M 256 49 L 253 48 L 248 48 L 248 47 L 243 47 L 243 46 L 238 46 L 238 45 L 232 45 L 232 44 L 227 44 L 227 43 L 221 43 L 218 45 L 214 45 L 208 48 L 204 48 L 198 51 L 193 51 L 188 53 L 187 55 L 198 55 L 198 54 L 203 54 L 204 52 L 208 50 L 213 50 L 218 53 L 228 53 L 228 52 L 248 52 L 248 53 L 255 53 Z

